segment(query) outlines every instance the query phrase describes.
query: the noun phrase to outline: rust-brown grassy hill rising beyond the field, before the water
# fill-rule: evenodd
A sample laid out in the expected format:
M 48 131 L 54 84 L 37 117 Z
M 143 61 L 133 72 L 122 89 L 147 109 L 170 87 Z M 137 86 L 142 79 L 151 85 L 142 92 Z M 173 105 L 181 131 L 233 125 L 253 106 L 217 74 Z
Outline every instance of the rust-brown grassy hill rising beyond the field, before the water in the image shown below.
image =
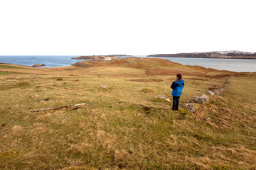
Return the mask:
M 173 76 L 177 72 L 186 76 L 209 77 L 209 78 L 223 78 L 236 75 L 236 72 L 229 72 L 224 70 L 210 69 L 201 66 L 188 66 L 164 60 L 161 58 L 146 58 L 146 57 L 125 57 L 113 60 L 85 60 L 76 62 L 73 67 L 83 67 L 89 70 L 96 69 L 96 67 L 104 70 L 106 67 L 122 67 L 137 69 L 137 72 L 144 72 L 149 75 L 164 75 Z M 111 73 L 111 72 L 110 72 Z

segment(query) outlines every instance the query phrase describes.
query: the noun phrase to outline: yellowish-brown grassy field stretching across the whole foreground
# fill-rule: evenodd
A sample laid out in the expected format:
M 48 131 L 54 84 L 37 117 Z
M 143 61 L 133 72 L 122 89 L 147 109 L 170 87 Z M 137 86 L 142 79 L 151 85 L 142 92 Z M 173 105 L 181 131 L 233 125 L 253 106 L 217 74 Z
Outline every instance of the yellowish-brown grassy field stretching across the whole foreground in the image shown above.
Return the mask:
M 254 73 L 156 63 L 6 67 L 0 64 L 0 169 L 256 169 Z M 186 81 L 181 103 L 208 84 L 228 91 L 196 104 L 195 113 L 172 111 L 154 97 L 171 98 L 176 70 Z M 85 106 L 31 112 L 75 103 Z

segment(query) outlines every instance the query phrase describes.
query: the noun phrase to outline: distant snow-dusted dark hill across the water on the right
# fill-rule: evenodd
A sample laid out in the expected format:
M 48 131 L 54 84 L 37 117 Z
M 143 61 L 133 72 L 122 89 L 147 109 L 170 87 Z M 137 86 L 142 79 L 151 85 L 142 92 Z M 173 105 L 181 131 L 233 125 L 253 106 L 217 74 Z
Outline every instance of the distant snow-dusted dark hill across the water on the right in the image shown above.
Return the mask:
M 148 55 L 147 57 L 187 57 L 187 58 L 230 58 L 230 59 L 256 59 L 256 52 L 241 51 L 214 51 L 192 52 L 178 54 Z

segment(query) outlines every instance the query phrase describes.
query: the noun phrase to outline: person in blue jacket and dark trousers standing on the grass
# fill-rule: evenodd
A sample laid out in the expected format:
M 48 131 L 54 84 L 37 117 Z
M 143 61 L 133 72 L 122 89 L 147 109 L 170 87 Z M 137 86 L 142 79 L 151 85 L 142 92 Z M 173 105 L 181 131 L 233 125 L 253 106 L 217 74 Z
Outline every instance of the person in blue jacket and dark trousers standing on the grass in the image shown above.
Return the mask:
M 178 103 L 179 103 L 179 98 L 182 94 L 182 90 L 185 84 L 185 81 L 183 81 L 183 79 L 181 79 L 182 75 L 181 74 L 177 74 L 177 80 L 174 81 L 171 84 L 171 89 L 173 89 L 171 95 L 173 96 L 173 106 L 172 106 L 172 110 L 173 111 L 178 111 Z

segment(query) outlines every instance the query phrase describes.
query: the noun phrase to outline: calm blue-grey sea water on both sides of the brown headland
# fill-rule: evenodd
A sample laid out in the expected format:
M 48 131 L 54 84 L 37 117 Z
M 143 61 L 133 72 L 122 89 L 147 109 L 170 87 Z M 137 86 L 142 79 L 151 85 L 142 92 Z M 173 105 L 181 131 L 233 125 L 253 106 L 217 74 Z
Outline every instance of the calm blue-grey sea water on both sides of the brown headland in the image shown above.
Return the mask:
M 79 55 L 9 55 L 0 56 L 0 63 L 33 66 L 33 64 L 46 64 L 44 67 L 66 67 L 84 60 L 73 60 Z M 146 57 L 134 55 L 134 57 Z M 249 59 L 220 59 L 220 58 L 181 58 L 160 57 L 185 65 L 198 65 L 206 68 L 229 70 L 233 72 L 256 72 L 256 60 Z

